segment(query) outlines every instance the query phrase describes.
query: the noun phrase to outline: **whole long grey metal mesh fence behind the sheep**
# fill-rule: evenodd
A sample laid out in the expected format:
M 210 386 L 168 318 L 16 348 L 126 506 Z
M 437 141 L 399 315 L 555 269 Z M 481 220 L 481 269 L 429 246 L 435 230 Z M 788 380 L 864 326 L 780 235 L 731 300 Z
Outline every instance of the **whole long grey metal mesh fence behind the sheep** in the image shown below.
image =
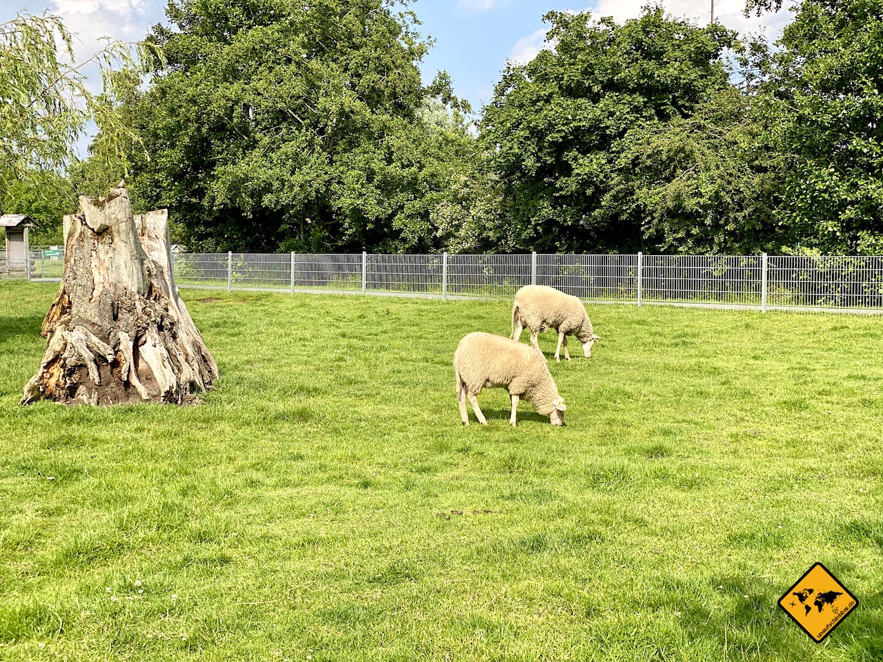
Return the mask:
M 31 251 L 35 280 L 57 280 L 57 247 Z M 760 255 L 174 254 L 180 287 L 511 298 L 551 285 L 585 301 L 883 312 L 883 257 Z

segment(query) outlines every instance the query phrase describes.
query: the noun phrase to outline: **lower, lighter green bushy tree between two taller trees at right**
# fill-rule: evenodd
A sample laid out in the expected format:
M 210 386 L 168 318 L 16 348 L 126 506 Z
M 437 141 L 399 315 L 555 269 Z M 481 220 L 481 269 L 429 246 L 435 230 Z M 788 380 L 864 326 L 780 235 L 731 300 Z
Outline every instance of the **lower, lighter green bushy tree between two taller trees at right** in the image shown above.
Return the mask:
M 647 250 L 745 254 L 793 244 L 775 215 L 781 157 L 764 145 L 754 101 L 729 87 L 691 117 L 628 132 L 602 209 L 642 219 Z

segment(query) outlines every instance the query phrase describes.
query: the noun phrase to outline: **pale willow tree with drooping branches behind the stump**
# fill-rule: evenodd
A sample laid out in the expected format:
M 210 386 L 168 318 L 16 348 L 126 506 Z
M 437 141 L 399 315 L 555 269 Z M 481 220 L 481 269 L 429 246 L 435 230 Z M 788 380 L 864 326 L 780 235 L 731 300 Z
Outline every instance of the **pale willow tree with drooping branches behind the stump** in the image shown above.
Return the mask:
M 57 16 L 24 14 L 0 24 L 0 210 L 33 216 L 37 241 L 60 240 L 61 215 L 75 207 L 60 173 L 87 122 L 102 130 L 105 159 L 122 162 L 137 140 L 107 98 L 89 92 L 84 67 L 97 64 L 109 84 L 115 66 L 137 76 L 143 55 L 138 45 L 112 41 L 70 64 L 72 34 Z

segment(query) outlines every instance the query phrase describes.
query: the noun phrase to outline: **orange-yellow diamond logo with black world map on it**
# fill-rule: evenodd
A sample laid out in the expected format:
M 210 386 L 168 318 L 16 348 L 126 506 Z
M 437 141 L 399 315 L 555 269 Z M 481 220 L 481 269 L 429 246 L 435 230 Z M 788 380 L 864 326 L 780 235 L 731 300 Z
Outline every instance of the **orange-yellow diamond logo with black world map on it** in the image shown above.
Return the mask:
M 856 608 L 858 600 L 816 563 L 779 599 L 779 606 L 819 643 Z

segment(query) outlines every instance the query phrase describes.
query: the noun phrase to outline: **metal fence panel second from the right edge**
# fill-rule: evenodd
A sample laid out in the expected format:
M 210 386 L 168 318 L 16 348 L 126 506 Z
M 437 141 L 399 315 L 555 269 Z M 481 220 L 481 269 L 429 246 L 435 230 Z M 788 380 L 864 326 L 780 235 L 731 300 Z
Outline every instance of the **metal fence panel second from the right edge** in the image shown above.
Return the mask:
M 643 261 L 645 303 L 760 306 L 760 255 L 645 255 Z

